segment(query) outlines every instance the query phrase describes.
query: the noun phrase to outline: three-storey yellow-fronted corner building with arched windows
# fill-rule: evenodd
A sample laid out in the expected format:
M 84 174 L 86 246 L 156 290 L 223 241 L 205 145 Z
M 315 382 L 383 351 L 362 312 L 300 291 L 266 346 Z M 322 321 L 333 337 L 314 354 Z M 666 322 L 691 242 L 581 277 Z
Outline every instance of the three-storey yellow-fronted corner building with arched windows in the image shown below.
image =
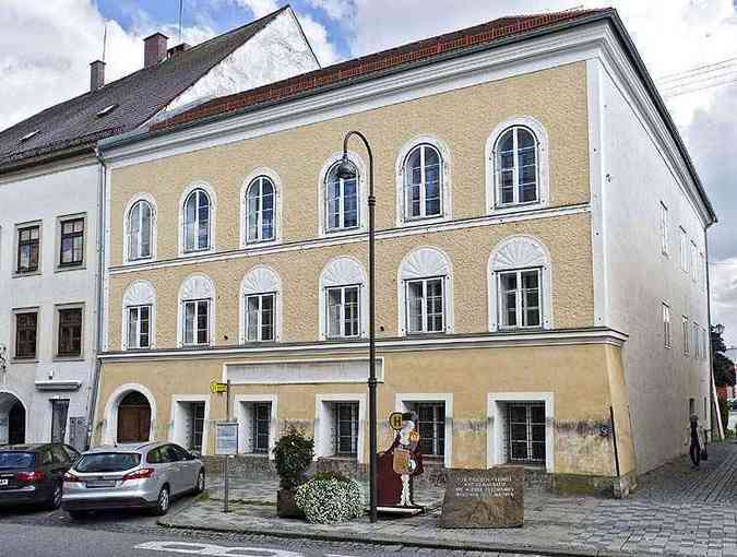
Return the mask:
M 375 156 L 380 446 L 414 410 L 437 467 L 615 493 L 682 451 L 689 412 L 710 414 L 713 212 L 616 13 L 530 22 L 104 141 L 94 441 L 213 454 L 210 383 L 229 380 L 242 459 L 264 465 L 296 424 L 328 465 L 368 462 L 366 152 L 335 171 L 355 129 Z

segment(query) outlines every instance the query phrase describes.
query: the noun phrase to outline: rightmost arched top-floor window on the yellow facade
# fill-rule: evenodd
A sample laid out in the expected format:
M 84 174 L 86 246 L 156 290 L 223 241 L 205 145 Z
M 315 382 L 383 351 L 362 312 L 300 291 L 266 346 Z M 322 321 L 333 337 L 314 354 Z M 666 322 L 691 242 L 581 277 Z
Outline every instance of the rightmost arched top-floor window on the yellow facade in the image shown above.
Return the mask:
M 539 155 L 533 131 L 525 126 L 512 126 L 499 137 L 494 152 L 497 206 L 537 203 Z

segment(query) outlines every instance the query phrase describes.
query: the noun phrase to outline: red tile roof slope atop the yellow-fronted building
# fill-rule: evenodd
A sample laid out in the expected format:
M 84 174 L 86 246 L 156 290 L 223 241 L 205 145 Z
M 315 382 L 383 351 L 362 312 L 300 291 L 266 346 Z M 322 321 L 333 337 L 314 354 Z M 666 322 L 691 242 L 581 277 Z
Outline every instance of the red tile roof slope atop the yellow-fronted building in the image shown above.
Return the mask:
M 262 103 L 284 102 L 328 86 L 348 85 L 357 78 L 395 69 L 403 64 L 429 61 L 435 57 L 490 44 L 513 35 L 537 31 L 557 23 L 613 11 L 611 9 L 569 10 L 534 15 L 500 17 L 474 27 L 411 43 L 361 58 L 340 62 L 253 90 L 212 99 L 195 108 L 162 120 L 152 127 L 161 130 L 202 118 L 223 115 Z

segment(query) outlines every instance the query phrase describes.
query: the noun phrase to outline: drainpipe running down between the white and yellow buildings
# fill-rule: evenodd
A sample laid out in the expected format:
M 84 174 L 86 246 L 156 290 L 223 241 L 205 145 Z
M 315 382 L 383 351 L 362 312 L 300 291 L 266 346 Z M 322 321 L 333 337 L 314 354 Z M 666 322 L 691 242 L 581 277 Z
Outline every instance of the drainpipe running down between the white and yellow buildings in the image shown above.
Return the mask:
M 95 331 L 95 370 L 92 378 L 92 389 L 87 404 L 87 439 L 86 448 L 92 445 L 94 434 L 95 410 L 97 405 L 97 394 L 99 392 L 99 379 L 102 362 L 99 353 L 103 352 L 103 324 L 105 322 L 103 299 L 103 282 L 105 278 L 105 195 L 107 193 L 107 165 L 100 155 L 99 149 L 95 147 L 95 156 L 99 162 L 99 183 L 97 190 L 97 281 L 95 284 L 95 294 L 97 297 L 97 327 Z

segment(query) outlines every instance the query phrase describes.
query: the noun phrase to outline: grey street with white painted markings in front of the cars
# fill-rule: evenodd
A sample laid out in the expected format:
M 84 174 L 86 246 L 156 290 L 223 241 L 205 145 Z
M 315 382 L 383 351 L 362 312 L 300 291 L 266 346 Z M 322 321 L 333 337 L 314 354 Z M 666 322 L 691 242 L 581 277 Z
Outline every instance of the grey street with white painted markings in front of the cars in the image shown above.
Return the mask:
M 189 502 L 177 501 L 171 512 Z M 59 510 L 0 509 L 0 557 L 365 557 L 417 555 L 468 557 L 476 552 L 445 552 L 276 538 L 202 531 L 168 530 L 154 517 L 135 512 L 96 513 L 72 521 Z

